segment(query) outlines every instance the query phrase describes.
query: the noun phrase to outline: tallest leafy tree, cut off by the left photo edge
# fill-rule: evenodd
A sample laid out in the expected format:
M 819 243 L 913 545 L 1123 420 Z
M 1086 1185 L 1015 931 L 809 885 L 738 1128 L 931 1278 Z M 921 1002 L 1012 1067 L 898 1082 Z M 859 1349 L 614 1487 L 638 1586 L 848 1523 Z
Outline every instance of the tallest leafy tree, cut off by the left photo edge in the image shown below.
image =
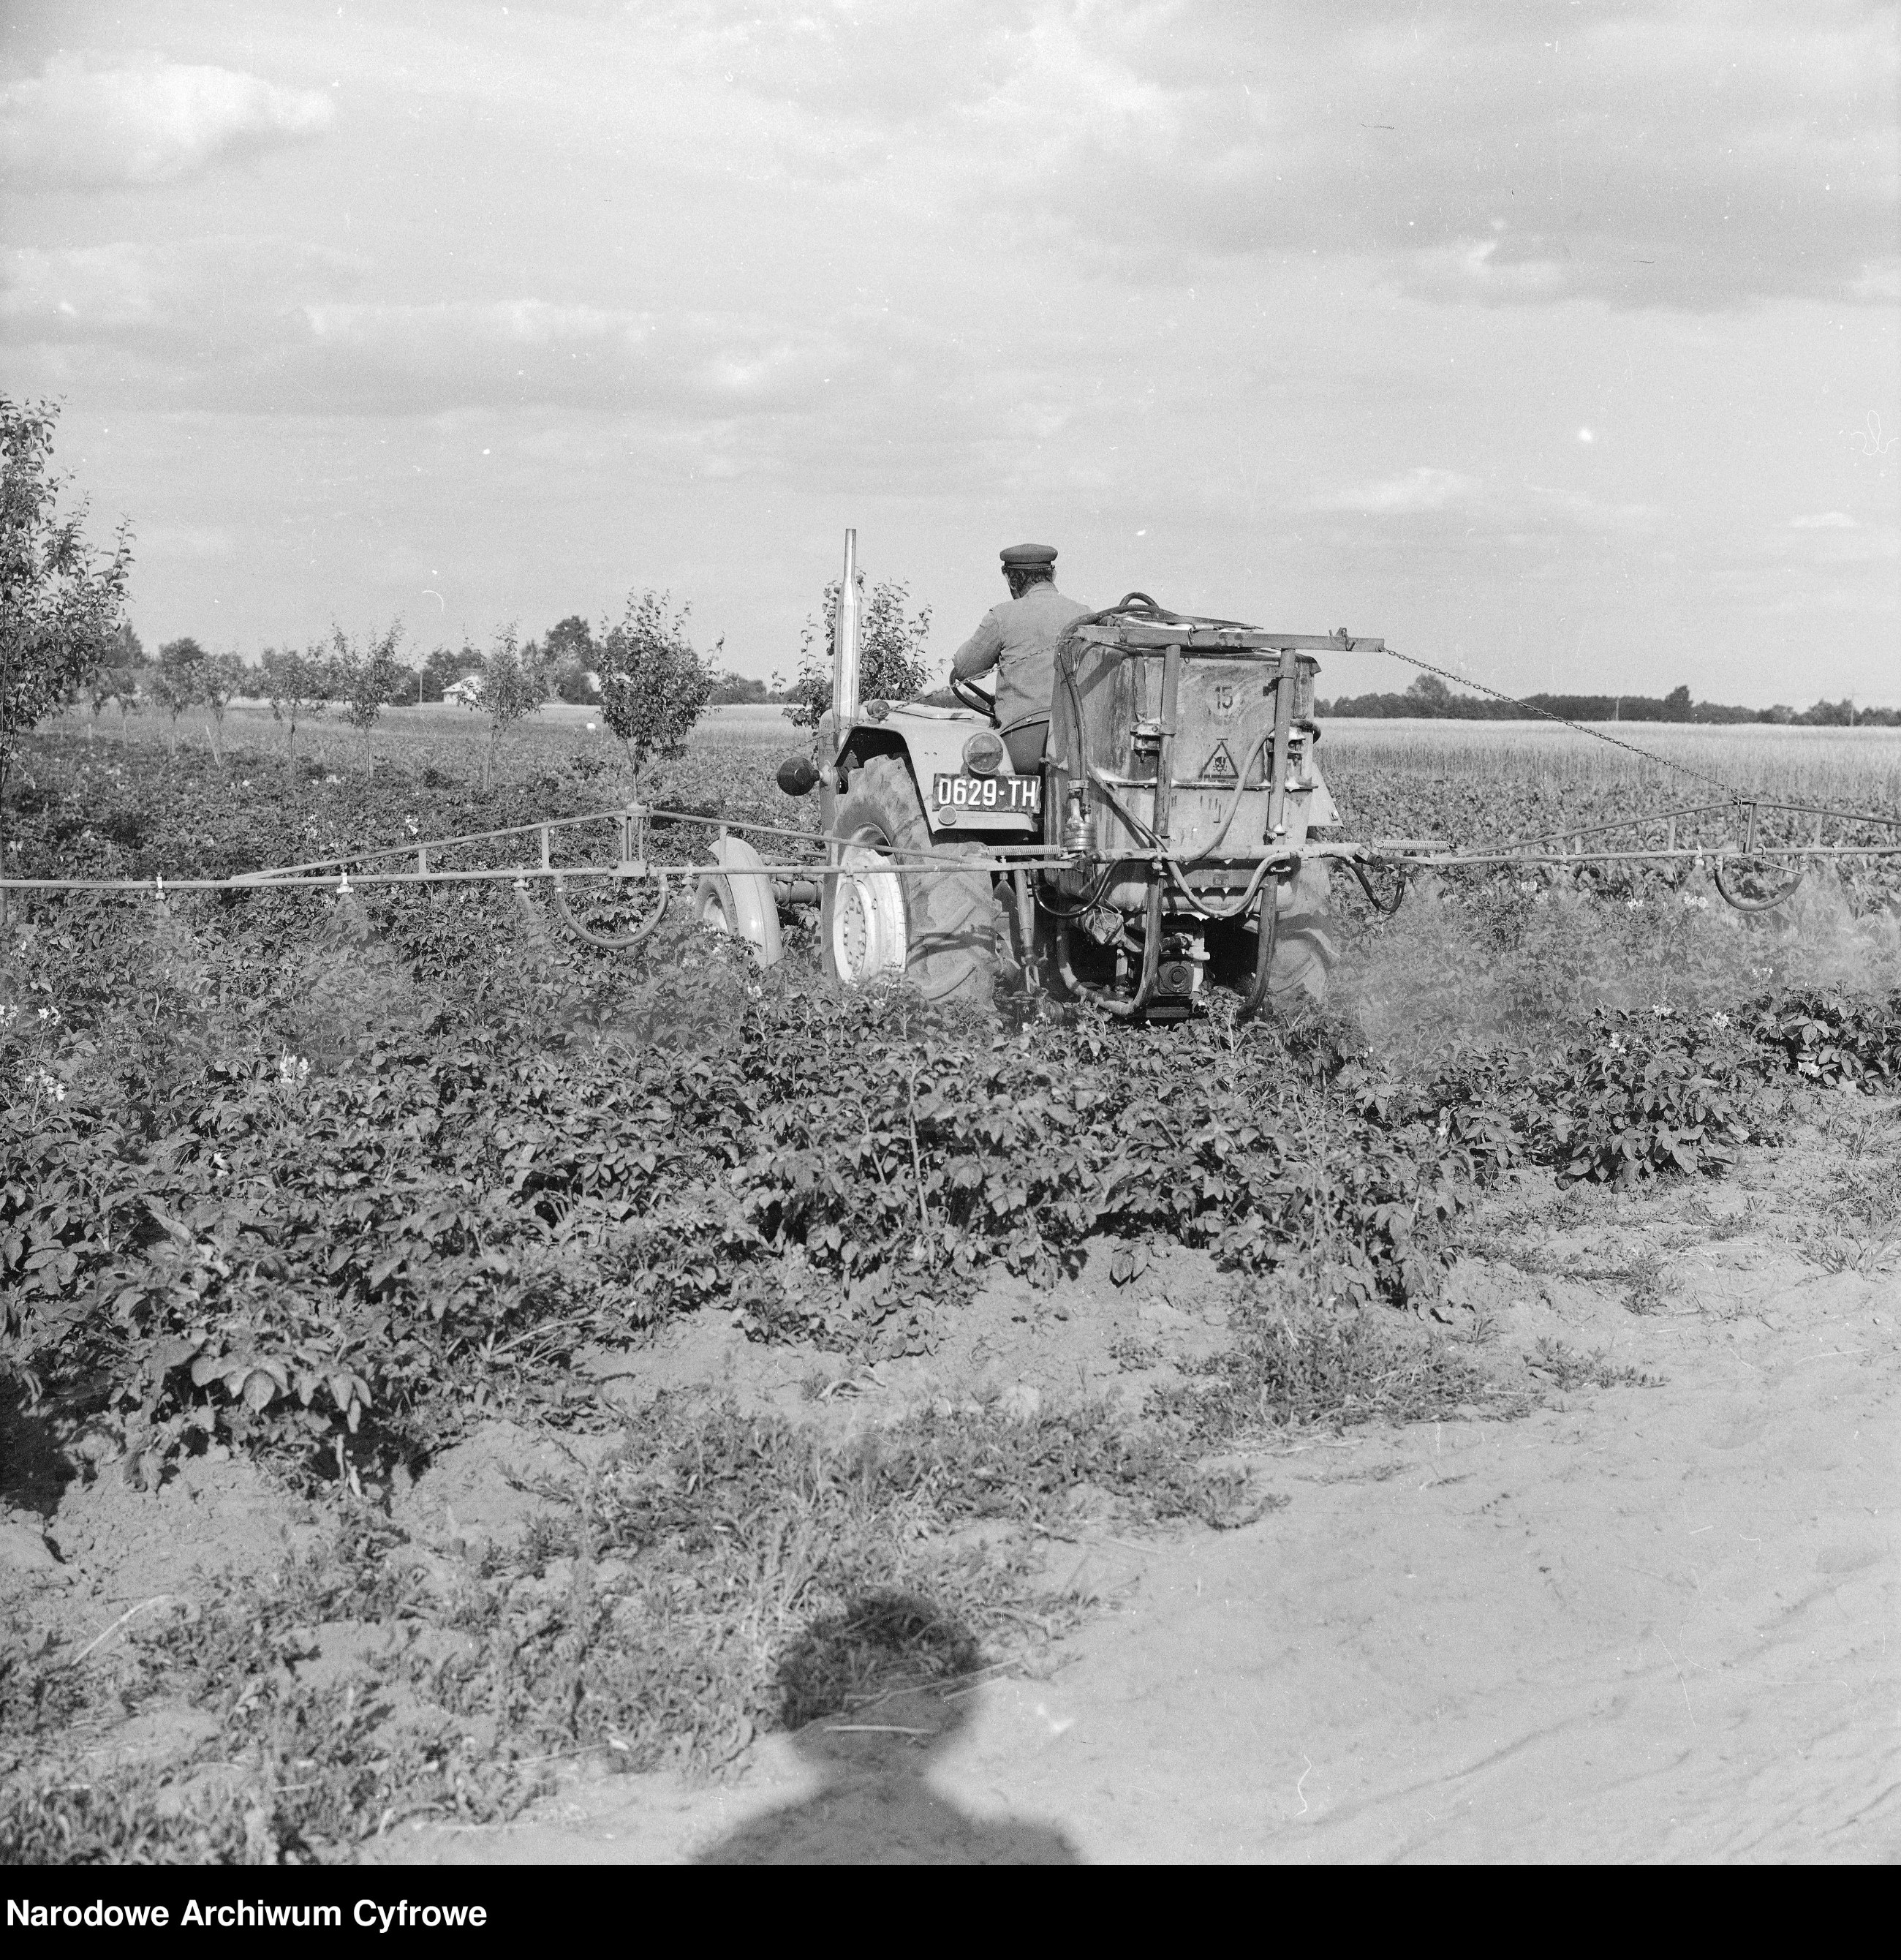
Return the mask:
M 125 523 L 102 559 L 84 500 L 61 515 L 71 478 L 53 474 L 57 419 L 51 402 L 0 394 L 0 796 L 22 739 L 110 664 L 131 578 Z

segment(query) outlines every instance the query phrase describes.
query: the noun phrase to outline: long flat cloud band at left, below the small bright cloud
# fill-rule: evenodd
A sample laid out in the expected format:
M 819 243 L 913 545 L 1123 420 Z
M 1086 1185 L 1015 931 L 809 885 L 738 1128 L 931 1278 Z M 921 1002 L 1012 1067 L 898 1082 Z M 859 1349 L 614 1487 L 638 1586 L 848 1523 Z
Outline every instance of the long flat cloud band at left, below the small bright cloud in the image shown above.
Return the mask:
M 0 257 L 0 347 L 110 374 L 143 408 L 300 416 L 580 412 L 684 443 L 700 474 L 905 470 L 972 396 L 956 333 L 884 308 L 627 308 L 535 296 L 366 298 L 372 269 L 284 237 L 200 237 Z M 102 361 L 110 357 L 110 361 Z M 51 363 L 51 365 L 49 365 Z M 990 372 L 1023 427 L 1050 421 L 1037 374 Z M 813 429 L 823 425 L 823 439 Z M 1054 433 L 1060 417 L 1045 429 Z

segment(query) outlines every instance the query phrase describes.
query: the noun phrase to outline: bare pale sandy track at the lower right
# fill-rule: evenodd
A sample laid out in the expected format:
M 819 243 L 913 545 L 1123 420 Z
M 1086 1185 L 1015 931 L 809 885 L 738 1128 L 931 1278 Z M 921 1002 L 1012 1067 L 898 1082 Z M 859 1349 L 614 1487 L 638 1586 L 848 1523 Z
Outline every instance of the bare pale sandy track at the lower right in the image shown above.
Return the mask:
M 1762 1152 L 1723 1209 L 1503 1219 L 1468 1311 L 1646 1386 L 1307 1437 L 1262 1458 L 1292 1503 L 1252 1527 L 1060 1546 L 1101 1615 L 1039 1678 L 390 1856 L 1891 1860 L 1901 1286 L 1797 1256 L 1825 1176 Z M 1576 1278 L 1646 1250 L 1648 1292 Z

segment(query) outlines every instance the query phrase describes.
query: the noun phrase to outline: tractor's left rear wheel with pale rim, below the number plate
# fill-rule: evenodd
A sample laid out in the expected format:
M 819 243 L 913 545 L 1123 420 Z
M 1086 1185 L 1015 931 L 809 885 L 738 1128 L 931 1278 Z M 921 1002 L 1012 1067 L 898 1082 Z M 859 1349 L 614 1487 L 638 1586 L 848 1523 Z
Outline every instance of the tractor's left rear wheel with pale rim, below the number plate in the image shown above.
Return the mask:
M 980 843 L 931 841 L 911 772 L 872 757 L 833 817 L 841 874 L 825 880 L 819 949 L 833 986 L 903 980 L 925 1000 L 990 1005 L 998 982 L 990 872 Z

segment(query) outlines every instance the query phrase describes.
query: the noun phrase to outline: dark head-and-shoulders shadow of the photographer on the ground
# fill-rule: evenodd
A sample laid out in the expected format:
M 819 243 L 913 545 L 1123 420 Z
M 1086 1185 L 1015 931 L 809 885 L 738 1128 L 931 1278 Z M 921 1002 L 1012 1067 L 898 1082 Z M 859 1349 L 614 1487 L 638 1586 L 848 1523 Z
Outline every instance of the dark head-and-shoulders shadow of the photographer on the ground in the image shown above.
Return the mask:
M 780 1662 L 778 1686 L 792 1744 L 825 1784 L 700 1862 L 1076 1864 L 1060 1831 L 970 1817 L 931 1788 L 931 1762 L 966 1725 L 970 1701 L 929 1684 L 978 1666 L 976 1641 L 913 1593 L 866 1593 L 809 1627 Z

